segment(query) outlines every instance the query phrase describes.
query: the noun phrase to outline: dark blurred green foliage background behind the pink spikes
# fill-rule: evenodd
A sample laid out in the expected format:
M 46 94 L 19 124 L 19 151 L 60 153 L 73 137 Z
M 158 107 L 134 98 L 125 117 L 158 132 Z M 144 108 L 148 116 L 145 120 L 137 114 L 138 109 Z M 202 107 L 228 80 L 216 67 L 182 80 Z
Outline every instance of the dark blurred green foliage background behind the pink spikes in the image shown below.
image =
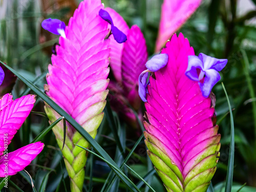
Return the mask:
M 149 55 L 154 53 L 158 31 L 161 4 L 160 0 L 104 0 L 105 7 L 119 12 L 129 26 L 138 25 L 145 38 Z M 42 30 L 40 24 L 44 18 L 59 18 L 67 23 L 72 12 L 79 4 L 75 0 L 0 0 L 0 60 L 44 90 L 48 63 L 51 62 L 51 46 L 58 37 Z M 235 125 L 235 161 L 234 186 L 232 191 L 246 183 L 240 191 L 256 191 L 256 1 L 255 0 L 203 0 L 197 12 L 178 32 L 182 32 L 194 47 L 196 54 L 203 52 L 216 58 L 229 60 L 222 71 L 222 79 L 231 101 Z M 110 74 L 110 78 L 113 76 Z M 28 94 L 26 85 L 19 79 L 12 91 L 14 98 Z M 216 191 L 224 188 L 229 153 L 230 118 L 225 94 L 218 83 L 216 94 L 217 124 L 220 125 L 221 156 L 217 172 L 212 179 Z M 30 91 L 29 93 L 32 93 Z M 38 97 L 33 111 L 44 113 L 44 103 Z M 108 109 L 105 109 L 108 110 Z M 129 153 L 141 132 L 131 130 L 117 115 L 113 119 L 104 117 L 98 130 L 96 141 L 116 162 L 121 157 L 109 127 L 110 121 L 116 125 L 120 141 Z M 14 137 L 9 151 L 29 144 L 42 130 L 49 126 L 48 119 L 42 114 L 31 114 L 20 131 Z M 136 134 L 134 134 L 136 133 Z M 34 180 L 38 191 L 69 191 L 69 178 L 55 136 L 49 132 L 43 139 L 44 151 L 26 168 Z M 140 176 L 150 172 L 147 182 L 156 191 L 164 191 L 162 182 L 154 172 L 153 165 L 146 155 L 143 142 L 136 148 L 126 163 Z M 105 162 L 89 155 L 86 167 L 84 190 L 100 191 L 110 168 Z M 132 181 L 140 182 L 137 176 L 124 169 Z M 154 174 L 154 176 L 152 176 Z M 93 182 L 90 182 L 90 179 Z M 45 185 L 44 185 L 45 184 Z M 42 186 L 44 185 L 44 186 Z M 110 191 L 126 191 L 125 185 L 116 182 Z M 251 187 L 249 187 L 251 186 Z M 119 188 L 119 189 L 118 189 Z M 2 189 L 4 191 L 4 189 Z M 142 191 L 150 191 L 145 185 Z M 7 191 L 31 191 L 31 181 L 26 173 L 11 177 Z

